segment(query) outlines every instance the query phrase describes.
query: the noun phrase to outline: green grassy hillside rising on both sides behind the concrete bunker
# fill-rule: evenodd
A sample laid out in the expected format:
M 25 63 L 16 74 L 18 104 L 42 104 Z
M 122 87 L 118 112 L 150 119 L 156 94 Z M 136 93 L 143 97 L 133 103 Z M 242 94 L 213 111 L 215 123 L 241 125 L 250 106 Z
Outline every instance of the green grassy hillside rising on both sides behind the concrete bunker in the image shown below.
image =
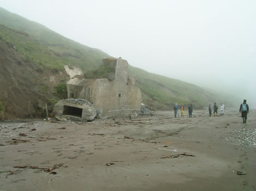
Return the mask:
M 17 52 L 38 67 L 61 69 L 63 65 L 71 64 L 79 66 L 86 73 L 100 66 L 103 57 L 109 56 L 99 49 L 67 39 L 39 23 L 2 8 L 0 8 L 0 24 L 0 37 L 14 44 Z M 217 99 L 214 93 L 180 80 L 148 73 L 135 67 L 130 67 L 130 73 L 136 74 L 143 101 L 151 108 L 168 109 L 174 103 L 192 103 L 199 108 Z M 231 105 L 231 101 L 226 98 L 218 97 L 218 99 Z

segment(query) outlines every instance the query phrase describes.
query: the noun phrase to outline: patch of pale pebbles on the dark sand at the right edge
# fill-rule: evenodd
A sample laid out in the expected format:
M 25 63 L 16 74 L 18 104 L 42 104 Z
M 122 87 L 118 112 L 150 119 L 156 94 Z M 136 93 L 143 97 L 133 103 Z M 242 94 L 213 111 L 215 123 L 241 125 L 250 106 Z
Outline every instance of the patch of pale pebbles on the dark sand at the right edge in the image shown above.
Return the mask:
M 228 129 L 231 136 L 226 137 L 227 142 L 234 142 L 242 148 L 256 148 L 256 128 L 254 129 Z

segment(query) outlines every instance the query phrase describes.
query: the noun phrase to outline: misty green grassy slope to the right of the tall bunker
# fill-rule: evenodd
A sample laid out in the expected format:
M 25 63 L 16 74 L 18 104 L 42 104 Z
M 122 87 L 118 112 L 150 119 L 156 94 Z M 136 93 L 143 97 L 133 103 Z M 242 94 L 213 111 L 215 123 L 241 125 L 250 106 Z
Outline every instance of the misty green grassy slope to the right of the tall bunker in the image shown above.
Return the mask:
M 136 74 L 137 85 L 142 90 L 144 101 L 156 109 L 159 109 L 159 106 L 166 109 L 172 108 L 175 103 L 193 104 L 195 108 L 202 108 L 213 104 L 216 100 L 232 105 L 229 99 L 219 97 L 193 84 L 149 73 L 135 67 L 130 67 L 130 73 Z

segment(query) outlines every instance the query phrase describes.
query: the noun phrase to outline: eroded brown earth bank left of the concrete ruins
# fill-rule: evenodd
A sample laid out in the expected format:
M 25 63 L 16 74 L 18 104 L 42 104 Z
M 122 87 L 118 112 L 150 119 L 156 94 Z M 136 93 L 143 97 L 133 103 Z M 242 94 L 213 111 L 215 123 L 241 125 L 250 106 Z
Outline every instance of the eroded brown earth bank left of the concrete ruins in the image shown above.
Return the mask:
M 52 92 L 64 71 L 45 69 L 17 51 L 15 44 L 0 39 L 0 101 L 5 119 L 43 116 L 45 104 L 58 99 Z

